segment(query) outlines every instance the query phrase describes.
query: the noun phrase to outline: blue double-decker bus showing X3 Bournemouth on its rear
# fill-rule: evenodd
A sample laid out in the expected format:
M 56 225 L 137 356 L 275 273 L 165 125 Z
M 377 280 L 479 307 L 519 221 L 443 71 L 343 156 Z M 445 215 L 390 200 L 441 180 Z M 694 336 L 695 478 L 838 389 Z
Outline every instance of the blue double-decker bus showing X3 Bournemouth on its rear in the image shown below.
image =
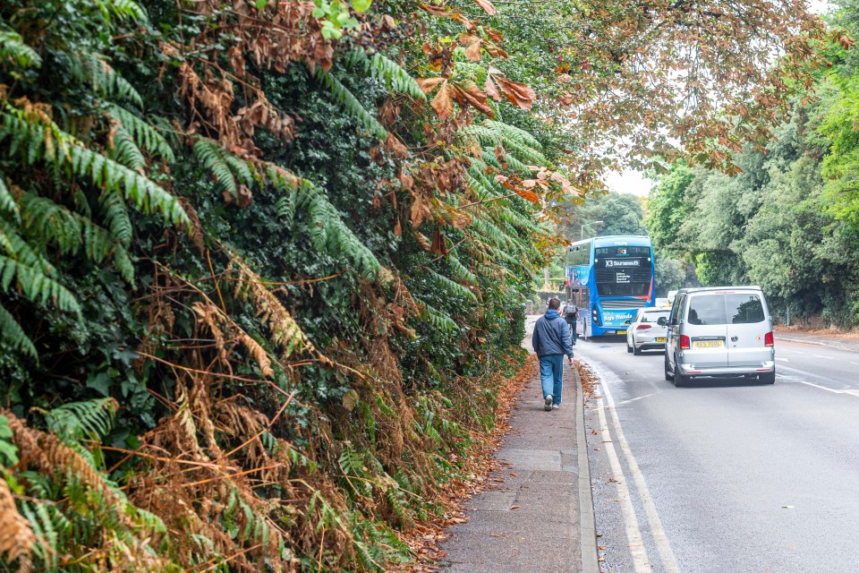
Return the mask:
M 599 236 L 570 245 L 566 294 L 591 336 L 626 334 L 626 321 L 653 306 L 653 247 L 644 235 Z

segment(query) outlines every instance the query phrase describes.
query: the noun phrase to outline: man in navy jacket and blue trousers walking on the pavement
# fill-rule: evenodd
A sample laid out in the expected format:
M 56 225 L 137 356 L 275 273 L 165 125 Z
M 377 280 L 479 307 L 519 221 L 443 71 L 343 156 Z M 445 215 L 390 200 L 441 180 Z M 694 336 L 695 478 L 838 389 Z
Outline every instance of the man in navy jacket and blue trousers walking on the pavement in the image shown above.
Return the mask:
M 543 409 L 557 410 L 561 404 L 562 378 L 564 376 L 564 355 L 573 364 L 573 345 L 570 341 L 570 327 L 561 318 L 558 309 L 561 301 L 549 299 L 546 314 L 537 319 L 531 339 L 534 352 L 540 359 L 540 382 L 543 385 Z

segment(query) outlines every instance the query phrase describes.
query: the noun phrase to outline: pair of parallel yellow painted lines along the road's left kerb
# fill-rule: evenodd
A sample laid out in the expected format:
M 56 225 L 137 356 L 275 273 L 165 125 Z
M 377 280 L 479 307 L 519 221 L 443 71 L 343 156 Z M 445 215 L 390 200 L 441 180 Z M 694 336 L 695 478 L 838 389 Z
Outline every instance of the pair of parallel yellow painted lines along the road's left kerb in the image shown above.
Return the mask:
M 624 457 L 626 458 L 626 464 L 629 466 L 630 473 L 633 475 L 635 487 L 638 489 L 639 495 L 641 496 L 642 508 L 647 516 L 647 521 L 651 528 L 653 543 L 656 545 L 656 549 L 659 552 L 659 559 L 662 561 L 662 566 L 665 568 L 666 573 L 679 573 L 680 568 L 677 566 L 677 560 L 674 552 L 671 550 L 671 544 L 668 543 L 668 535 L 666 535 L 665 529 L 662 528 L 662 521 L 659 519 L 659 513 L 653 506 L 651 492 L 647 487 L 647 482 L 644 480 L 641 468 L 635 461 L 633 451 L 630 449 L 629 443 L 626 441 L 623 428 L 620 424 L 620 419 L 617 417 L 615 401 L 614 398 L 611 397 L 611 390 L 608 389 L 608 378 L 594 365 L 594 363 L 587 360 L 584 362 L 591 367 L 591 370 L 600 378 L 600 381 L 602 381 L 600 389 L 602 390 L 602 395 L 605 396 L 605 398 L 597 398 L 597 406 L 600 414 L 600 430 L 602 431 L 602 439 L 606 443 L 608 463 L 617 479 L 618 497 L 623 501 L 622 507 L 624 509 L 624 519 L 626 521 L 626 533 L 629 538 L 630 552 L 633 553 L 635 570 L 636 572 L 639 571 L 640 567 L 639 557 L 637 556 L 637 553 L 639 552 L 644 554 L 643 563 L 644 567 L 647 568 L 646 570 L 651 570 L 651 568 L 650 565 L 647 564 L 647 554 L 642 544 L 641 528 L 638 526 L 638 519 L 635 517 L 635 510 L 629 497 L 629 490 L 624 481 L 623 468 L 620 466 L 617 452 L 615 451 L 614 444 L 611 440 L 611 434 L 608 432 L 605 410 L 608 410 L 608 413 L 611 415 L 611 422 L 615 430 L 616 440 L 620 444 L 620 449 L 623 451 Z M 608 406 L 603 403 L 603 399 L 606 400 Z M 629 512 L 627 512 L 627 504 L 629 505 Z M 630 536 L 631 529 L 633 530 L 632 537 Z M 634 541 L 633 537 L 637 537 L 637 539 Z

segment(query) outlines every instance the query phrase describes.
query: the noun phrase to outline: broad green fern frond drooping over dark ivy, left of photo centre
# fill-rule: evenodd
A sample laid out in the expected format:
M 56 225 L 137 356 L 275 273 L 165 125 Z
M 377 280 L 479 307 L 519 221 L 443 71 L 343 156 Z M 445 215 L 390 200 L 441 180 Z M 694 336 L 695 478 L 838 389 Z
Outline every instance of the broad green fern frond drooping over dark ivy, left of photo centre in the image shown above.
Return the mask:
M 346 227 L 340 213 L 310 182 L 302 180 L 298 207 L 310 218 L 310 238 L 319 251 L 344 257 L 365 278 L 376 278 L 381 265 L 376 255 Z

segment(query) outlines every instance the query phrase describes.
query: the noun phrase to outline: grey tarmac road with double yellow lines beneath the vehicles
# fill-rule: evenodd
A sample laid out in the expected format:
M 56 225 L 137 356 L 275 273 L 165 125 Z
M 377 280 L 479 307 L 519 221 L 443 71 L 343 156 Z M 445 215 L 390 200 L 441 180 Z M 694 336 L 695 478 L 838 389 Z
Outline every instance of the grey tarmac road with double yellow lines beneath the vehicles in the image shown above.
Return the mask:
M 776 338 L 775 385 L 675 388 L 663 354 L 580 338 L 600 568 L 859 569 L 859 352 Z

